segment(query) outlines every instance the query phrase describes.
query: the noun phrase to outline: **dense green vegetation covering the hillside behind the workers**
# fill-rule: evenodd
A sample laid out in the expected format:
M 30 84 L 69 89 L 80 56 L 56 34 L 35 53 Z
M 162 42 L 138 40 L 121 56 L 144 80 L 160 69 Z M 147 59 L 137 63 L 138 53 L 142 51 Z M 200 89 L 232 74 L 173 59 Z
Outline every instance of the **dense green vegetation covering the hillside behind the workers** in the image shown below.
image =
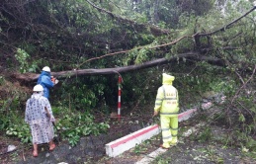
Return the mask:
M 133 65 L 121 74 L 124 107 L 152 109 L 161 73 L 171 73 L 183 110 L 208 91 L 226 96 L 214 120 L 233 129 L 230 143 L 255 151 L 254 10 L 245 0 L 2 0 L 0 131 L 30 142 L 23 114 L 35 81 L 17 74 L 48 65 L 53 72 L 113 68 L 107 75 L 66 73 L 50 93 L 57 125 L 72 145 L 104 132 L 108 120 L 94 122 L 94 114 L 116 109 L 115 68 Z M 136 67 L 160 58 L 154 67 Z

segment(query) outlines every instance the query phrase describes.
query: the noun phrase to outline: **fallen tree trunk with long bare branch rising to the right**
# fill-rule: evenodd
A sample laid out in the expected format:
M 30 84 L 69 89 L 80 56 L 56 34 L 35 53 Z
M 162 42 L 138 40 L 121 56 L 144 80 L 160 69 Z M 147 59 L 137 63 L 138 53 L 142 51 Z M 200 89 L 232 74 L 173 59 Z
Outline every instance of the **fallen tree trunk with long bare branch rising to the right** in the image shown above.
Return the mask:
M 90 1 L 88 1 L 90 2 Z M 92 4 L 91 4 L 92 5 Z M 96 6 L 94 6 L 95 8 L 97 8 Z M 100 11 L 104 11 L 105 13 L 111 14 L 108 11 L 105 11 L 103 9 L 99 9 Z M 230 22 L 229 24 L 225 25 L 224 27 L 219 28 L 218 30 L 215 30 L 213 32 L 210 33 L 196 33 L 192 36 L 184 36 L 180 39 L 177 39 L 176 41 L 171 41 L 168 43 L 164 43 L 164 44 L 160 44 L 160 45 L 155 45 L 155 46 L 151 46 L 149 47 L 150 49 L 152 48 L 159 48 L 159 47 L 164 47 L 164 46 L 168 46 L 168 45 L 174 45 L 179 41 L 182 41 L 183 39 L 186 38 L 191 38 L 192 40 L 195 41 L 196 46 L 200 45 L 200 38 L 206 37 L 209 40 L 209 37 L 213 36 L 214 34 L 218 33 L 218 32 L 224 32 L 225 30 L 231 28 L 233 26 L 233 24 L 237 23 L 239 20 L 241 20 L 242 18 L 246 17 L 248 14 L 250 14 L 251 12 L 253 12 L 256 9 L 256 6 L 254 6 L 253 8 L 251 8 L 250 10 L 248 10 L 245 14 L 243 14 L 242 16 L 240 16 L 239 18 L 233 20 L 232 22 Z M 114 17 L 116 18 L 116 17 Z M 209 44 L 208 47 L 212 47 L 212 44 Z M 141 49 L 143 48 L 141 47 L 136 47 L 136 49 Z M 148 48 L 148 47 L 147 47 Z M 74 68 L 73 70 L 67 70 L 67 71 L 60 71 L 60 72 L 51 72 L 51 75 L 57 77 L 57 78 L 62 78 L 62 77 L 74 77 L 74 76 L 82 76 L 82 75 L 105 75 L 105 74 L 119 74 L 119 73 L 126 73 L 129 71 L 135 71 L 135 70 L 140 70 L 140 69 L 145 69 L 145 68 L 149 68 L 149 67 L 153 67 L 156 65 L 161 65 L 161 64 L 165 64 L 180 58 L 188 58 L 191 60 L 195 60 L 195 61 L 207 61 L 211 64 L 214 65 L 219 65 L 219 66 L 226 66 L 226 59 L 223 59 L 221 57 L 217 58 L 217 57 L 213 57 L 213 56 L 209 56 L 206 55 L 208 52 L 210 52 L 211 50 L 213 50 L 213 48 L 209 48 L 209 49 L 203 49 L 201 47 L 199 47 L 200 50 L 199 51 L 189 51 L 189 52 L 185 52 L 185 53 L 179 53 L 177 55 L 173 55 L 170 58 L 159 58 L 159 59 L 155 59 L 155 60 L 151 60 L 151 61 L 147 61 L 144 62 L 142 64 L 137 64 L 137 65 L 129 65 L 129 66 L 124 66 L 124 67 L 114 67 L 114 68 L 103 68 L 103 69 L 79 69 L 79 67 L 84 64 L 85 62 L 89 62 L 92 60 L 96 60 L 96 59 L 100 59 L 106 56 L 111 56 L 111 55 L 116 55 L 116 54 L 120 54 L 120 53 L 128 53 L 129 51 L 131 51 L 132 49 L 128 49 L 128 50 L 122 50 L 122 51 L 117 51 L 114 53 L 108 53 L 99 57 L 94 57 L 91 59 L 86 60 L 85 62 L 81 63 L 78 68 Z M 222 47 L 222 49 L 237 49 L 237 47 Z M 27 81 L 27 82 L 31 82 L 31 81 L 35 81 L 38 79 L 40 74 L 36 74 L 36 73 L 24 73 L 24 74 L 20 74 L 20 73 L 14 73 L 12 75 L 12 77 L 21 80 L 21 81 Z

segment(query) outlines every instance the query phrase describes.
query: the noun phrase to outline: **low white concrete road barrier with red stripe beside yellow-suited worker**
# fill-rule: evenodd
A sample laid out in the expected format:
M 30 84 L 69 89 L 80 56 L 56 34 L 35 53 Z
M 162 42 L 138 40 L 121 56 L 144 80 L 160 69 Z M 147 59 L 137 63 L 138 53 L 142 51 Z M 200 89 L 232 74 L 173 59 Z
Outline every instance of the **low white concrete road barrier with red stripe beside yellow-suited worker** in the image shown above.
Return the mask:
M 188 120 L 196 111 L 197 109 L 192 109 L 179 114 L 179 122 Z M 128 149 L 134 147 L 136 144 L 139 144 L 142 141 L 157 135 L 160 131 L 160 126 L 158 124 L 149 125 L 145 128 L 139 129 L 133 133 L 128 134 L 127 136 L 106 144 L 106 154 L 110 157 L 116 157 Z

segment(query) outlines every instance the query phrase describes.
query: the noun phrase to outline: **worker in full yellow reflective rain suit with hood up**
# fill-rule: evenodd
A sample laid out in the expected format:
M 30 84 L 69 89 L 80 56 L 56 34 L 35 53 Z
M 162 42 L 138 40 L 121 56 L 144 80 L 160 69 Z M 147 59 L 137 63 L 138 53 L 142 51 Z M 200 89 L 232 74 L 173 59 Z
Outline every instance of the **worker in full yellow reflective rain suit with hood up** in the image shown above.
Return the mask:
M 174 76 L 163 73 L 163 85 L 158 88 L 155 100 L 154 115 L 160 112 L 160 123 L 162 130 L 162 148 L 169 148 L 178 142 L 178 113 L 179 97 L 178 91 L 172 86 Z

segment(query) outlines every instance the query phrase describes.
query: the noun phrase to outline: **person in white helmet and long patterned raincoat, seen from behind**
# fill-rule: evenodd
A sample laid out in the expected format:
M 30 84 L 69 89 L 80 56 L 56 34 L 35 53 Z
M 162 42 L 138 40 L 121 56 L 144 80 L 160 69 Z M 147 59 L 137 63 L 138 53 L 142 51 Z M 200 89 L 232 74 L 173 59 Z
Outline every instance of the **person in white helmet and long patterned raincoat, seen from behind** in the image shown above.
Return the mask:
M 33 156 L 37 157 L 38 144 L 48 143 L 49 150 L 55 148 L 52 115 L 47 98 L 43 97 L 43 86 L 38 84 L 33 89 L 32 97 L 26 103 L 25 122 L 30 124 L 33 138 Z

